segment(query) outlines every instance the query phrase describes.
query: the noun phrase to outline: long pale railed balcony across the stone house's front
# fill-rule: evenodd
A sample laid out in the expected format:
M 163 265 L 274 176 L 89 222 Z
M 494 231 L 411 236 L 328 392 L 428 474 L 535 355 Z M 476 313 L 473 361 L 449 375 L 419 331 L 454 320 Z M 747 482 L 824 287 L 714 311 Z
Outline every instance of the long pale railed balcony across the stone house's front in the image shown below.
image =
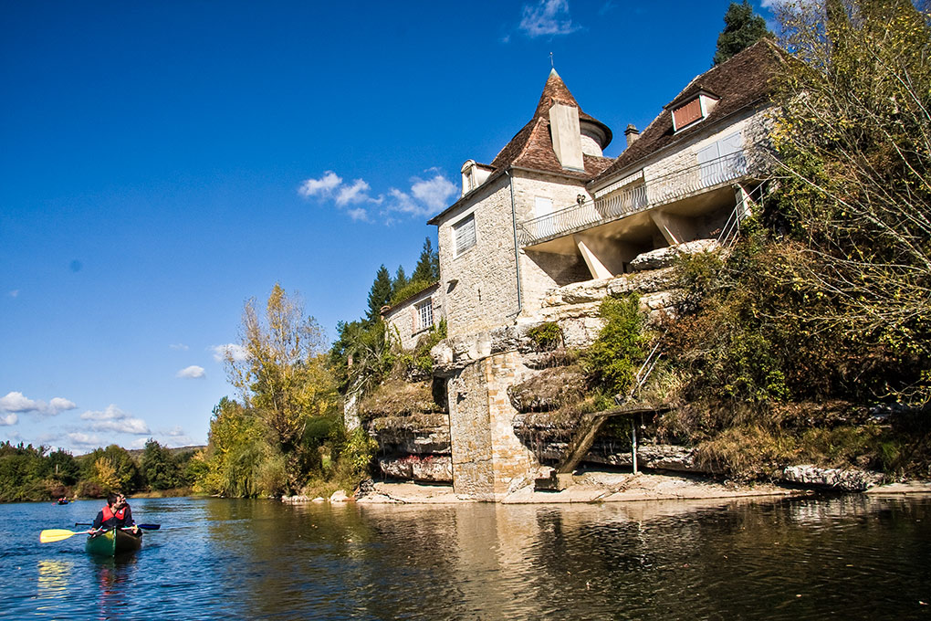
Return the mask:
M 702 164 L 674 170 L 646 183 L 628 186 L 594 202 L 573 205 L 518 223 L 518 243 L 521 247 L 533 246 L 584 231 L 620 220 L 632 213 L 694 196 L 746 175 L 747 159 L 743 151 L 737 151 Z

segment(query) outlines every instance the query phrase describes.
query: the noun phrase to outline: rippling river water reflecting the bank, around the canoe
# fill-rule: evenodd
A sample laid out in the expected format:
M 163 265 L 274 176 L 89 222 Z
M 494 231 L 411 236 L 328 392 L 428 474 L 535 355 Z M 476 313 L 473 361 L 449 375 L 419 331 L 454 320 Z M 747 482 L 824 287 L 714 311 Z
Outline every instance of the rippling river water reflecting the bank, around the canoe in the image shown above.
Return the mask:
M 931 616 L 931 496 L 604 505 L 130 500 L 160 523 L 101 560 L 99 501 L 0 506 L 10 619 L 907 619 Z

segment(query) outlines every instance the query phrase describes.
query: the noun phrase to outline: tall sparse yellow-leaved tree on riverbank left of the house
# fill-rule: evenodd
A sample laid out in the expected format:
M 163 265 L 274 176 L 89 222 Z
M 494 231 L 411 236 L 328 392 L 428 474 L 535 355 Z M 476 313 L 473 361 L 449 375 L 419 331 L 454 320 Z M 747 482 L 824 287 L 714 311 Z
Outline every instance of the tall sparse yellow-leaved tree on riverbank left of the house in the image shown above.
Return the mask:
M 226 359 L 244 406 L 263 421 L 273 448 L 287 460 L 290 490 L 299 489 L 307 473 L 320 466 L 319 425 L 339 420 L 322 344 L 314 317 L 304 317 L 300 300 L 276 284 L 263 315 L 254 300 L 246 303 L 242 346 L 247 357 Z

